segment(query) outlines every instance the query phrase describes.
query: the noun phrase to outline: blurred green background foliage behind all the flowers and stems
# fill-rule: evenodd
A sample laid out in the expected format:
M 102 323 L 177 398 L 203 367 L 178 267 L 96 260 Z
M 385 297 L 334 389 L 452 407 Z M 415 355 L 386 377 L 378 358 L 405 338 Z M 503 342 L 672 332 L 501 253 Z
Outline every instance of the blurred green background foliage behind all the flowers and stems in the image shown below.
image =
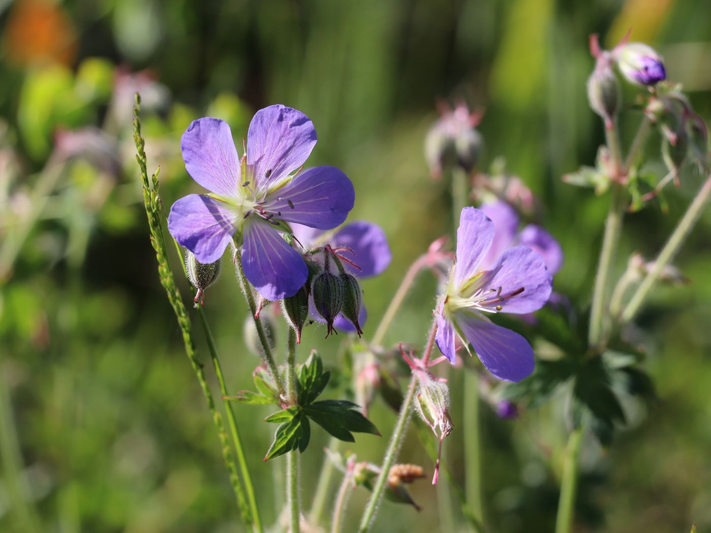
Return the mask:
M 604 138 L 587 107 L 587 38 L 600 33 L 610 48 L 632 28 L 708 118 L 710 20 L 705 0 L 0 0 L 0 531 L 242 530 L 148 241 L 131 136 L 135 90 L 166 208 L 198 190 L 179 152 L 192 119 L 226 119 L 237 138 L 267 104 L 313 120 L 319 143 L 309 164 L 346 172 L 356 190 L 351 220 L 377 222 L 390 239 L 390 268 L 363 283 L 367 336 L 407 266 L 451 232 L 449 185 L 429 178 L 422 154 L 438 98 L 486 109 L 480 168 L 503 156 L 538 195 L 540 222 L 566 254 L 555 289 L 587 306 L 608 199 L 560 181 L 591 164 Z M 640 118 L 626 110 L 627 142 Z M 87 126 L 100 132 L 70 133 Z M 653 257 L 701 180 L 686 168 L 667 213 L 651 206 L 626 219 L 616 274 L 631 252 Z M 638 318 L 659 401 L 629 406 L 631 424 L 611 448 L 587 440 L 579 532 L 685 532 L 694 521 L 711 531 L 710 236 L 707 213 L 677 260 L 692 284 L 657 289 Z M 258 359 L 242 340 L 247 307 L 225 270 L 205 312 L 236 391 L 250 387 Z M 422 275 L 387 343 L 422 343 L 434 290 Z M 301 360 L 313 346 L 335 367 L 338 339 L 323 333 L 306 330 Z M 461 374 L 450 375 L 446 463 L 461 483 Z M 552 530 L 565 442 L 559 403 L 515 421 L 485 409 L 494 531 Z M 274 431 L 261 422 L 269 412 L 237 406 L 267 523 L 283 501 L 284 468 L 284 458 L 261 461 Z M 379 401 L 370 418 L 387 436 L 395 414 Z M 326 442 L 314 431 L 302 457 L 306 508 Z M 359 434 L 350 448 L 380 463 L 386 444 Z M 414 431 L 400 461 L 432 471 Z M 423 510 L 384 502 L 378 531 L 442 529 L 428 480 L 412 494 Z M 367 495 L 355 492 L 345 531 Z

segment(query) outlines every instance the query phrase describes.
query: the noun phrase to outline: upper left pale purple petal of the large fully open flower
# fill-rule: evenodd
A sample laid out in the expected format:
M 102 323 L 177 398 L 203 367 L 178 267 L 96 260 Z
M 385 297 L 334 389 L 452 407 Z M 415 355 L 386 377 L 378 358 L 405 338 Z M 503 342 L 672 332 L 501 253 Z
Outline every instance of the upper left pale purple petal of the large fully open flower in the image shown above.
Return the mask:
M 242 170 L 227 122 L 209 117 L 193 120 L 180 147 L 185 168 L 193 180 L 221 196 L 230 198 L 237 194 Z

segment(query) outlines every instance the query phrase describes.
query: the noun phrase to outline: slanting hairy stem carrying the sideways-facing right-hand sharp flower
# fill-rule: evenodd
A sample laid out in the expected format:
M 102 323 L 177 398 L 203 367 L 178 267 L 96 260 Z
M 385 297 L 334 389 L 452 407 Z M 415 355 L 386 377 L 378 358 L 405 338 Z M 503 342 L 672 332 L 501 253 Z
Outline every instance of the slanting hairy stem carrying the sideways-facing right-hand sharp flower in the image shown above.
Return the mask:
M 432 354 L 432 347 L 434 346 L 434 335 L 436 333 L 437 319 L 435 318 L 434 321 L 432 321 L 432 328 L 429 330 L 429 337 L 427 338 L 427 348 L 424 349 L 424 355 L 422 356 L 422 364 L 424 366 L 427 366 L 429 356 Z M 385 491 L 387 476 L 390 473 L 392 463 L 395 463 L 395 458 L 397 458 L 397 452 L 400 451 L 402 439 L 405 438 L 405 429 L 407 428 L 407 422 L 410 420 L 410 414 L 412 414 L 412 401 L 415 399 L 416 392 L 417 376 L 413 374 L 412 379 L 410 379 L 410 385 L 407 387 L 407 394 L 405 394 L 405 399 L 402 400 L 402 406 L 400 406 L 400 414 L 397 416 L 397 424 L 395 424 L 395 430 L 392 432 L 390 443 L 388 443 L 387 445 L 387 451 L 385 451 L 383 465 L 380 467 L 380 474 L 378 474 L 378 479 L 375 481 L 375 486 L 373 487 L 373 494 L 370 495 L 368 505 L 365 507 L 363 517 L 360 519 L 360 527 L 358 528 L 359 533 L 368 532 L 370 531 L 370 527 L 373 526 L 373 521 L 375 520 L 375 513 L 378 510 L 380 500 L 383 498 L 383 492 Z

